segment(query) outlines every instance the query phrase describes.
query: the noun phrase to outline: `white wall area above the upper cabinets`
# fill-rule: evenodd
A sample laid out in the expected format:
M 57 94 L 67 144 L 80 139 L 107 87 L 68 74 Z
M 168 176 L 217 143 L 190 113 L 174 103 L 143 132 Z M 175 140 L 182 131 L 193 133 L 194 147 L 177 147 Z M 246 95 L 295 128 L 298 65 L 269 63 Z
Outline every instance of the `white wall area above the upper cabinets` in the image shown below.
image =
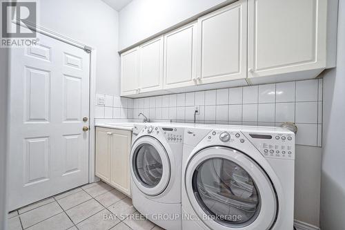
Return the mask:
M 228 0 L 134 0 L 119 12 L 119 50 Z

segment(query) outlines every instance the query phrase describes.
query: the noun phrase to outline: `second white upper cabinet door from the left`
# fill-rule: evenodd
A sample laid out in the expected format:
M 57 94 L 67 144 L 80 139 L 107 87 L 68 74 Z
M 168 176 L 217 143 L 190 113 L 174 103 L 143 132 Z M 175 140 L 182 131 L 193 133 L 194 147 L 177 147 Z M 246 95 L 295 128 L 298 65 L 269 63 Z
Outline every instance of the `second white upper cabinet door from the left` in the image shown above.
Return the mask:
M 140 93 L 163 88 L 163 36 L 139 47 Z

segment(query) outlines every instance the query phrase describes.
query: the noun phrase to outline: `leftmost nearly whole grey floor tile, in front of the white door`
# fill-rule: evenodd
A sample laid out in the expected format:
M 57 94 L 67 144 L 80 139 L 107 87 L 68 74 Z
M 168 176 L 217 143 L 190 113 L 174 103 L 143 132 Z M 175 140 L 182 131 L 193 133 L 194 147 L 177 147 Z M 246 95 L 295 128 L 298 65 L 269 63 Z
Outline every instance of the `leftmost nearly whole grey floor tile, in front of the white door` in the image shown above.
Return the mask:
M 38 222 L 51 218 L 53 215 L 57 215 L 62 211 L 63 210 L 57 202 L 52 202 L 21 214 L 21 223 L 23 224 L 23 228 L 26 229 Z

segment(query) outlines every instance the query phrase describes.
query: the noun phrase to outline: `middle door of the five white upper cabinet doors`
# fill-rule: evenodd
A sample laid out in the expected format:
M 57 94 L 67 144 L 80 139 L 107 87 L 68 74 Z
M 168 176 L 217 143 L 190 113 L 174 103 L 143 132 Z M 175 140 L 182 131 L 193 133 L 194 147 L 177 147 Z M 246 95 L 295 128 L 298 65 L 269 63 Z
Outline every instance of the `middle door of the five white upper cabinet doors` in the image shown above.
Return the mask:
M 164 36 L 164 88 L 195 85 L 196 23 Z

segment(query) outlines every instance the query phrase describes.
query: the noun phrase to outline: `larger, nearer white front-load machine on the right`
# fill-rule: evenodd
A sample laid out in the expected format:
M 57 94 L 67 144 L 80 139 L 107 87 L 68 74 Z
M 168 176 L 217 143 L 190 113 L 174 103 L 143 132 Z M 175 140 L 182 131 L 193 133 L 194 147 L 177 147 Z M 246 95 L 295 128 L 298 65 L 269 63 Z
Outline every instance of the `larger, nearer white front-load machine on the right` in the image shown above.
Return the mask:
M 293 230 L 293 132 L 215 125 L 184 140 L 182 229 Z

